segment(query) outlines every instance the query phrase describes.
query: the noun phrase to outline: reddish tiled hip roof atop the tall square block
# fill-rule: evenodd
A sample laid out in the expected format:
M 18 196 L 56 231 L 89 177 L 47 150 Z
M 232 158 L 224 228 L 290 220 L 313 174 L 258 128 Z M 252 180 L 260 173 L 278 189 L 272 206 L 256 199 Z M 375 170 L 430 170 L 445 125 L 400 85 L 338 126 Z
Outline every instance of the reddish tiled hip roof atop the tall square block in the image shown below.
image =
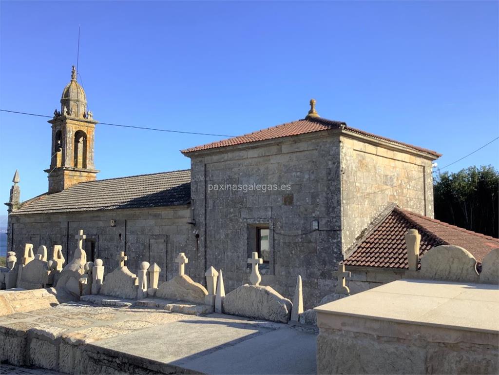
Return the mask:
M 374 139 L 380 139 L 384 141 L 388 141 L 391 143 L 395 143 L 397 145 L 402 145 L 417 151 L 422 151 L 426 152 L 428 154 L 431 154 L 436 157 L 442 156 L 436 151 L 432 150 L 427 150 L 425 148 L 421 148 L 418 146 L 413 146 L 408 143 L 403 143 L 399 141 L 395 141 L 390 138 L 382 137 L 380 135 L 372 134 L 372 133 L 367 133 L 365 131 L 351 128 L 346 125 L 346 123 L 342 121 L 333 121 L 333 120 L 328 120 L 326 118 L 321 118 L 321 117 L 307 117 L 301 120 L 297 121 L 292 121 L 292 122 L 287 122 L 285 124 L 277 125 L 277 126 L 272 126 L 266 129 L 258 130 L 252 133 L 240 135 L 237 137 L 232 137 L 228 139 L 224 139 L 221 141 L 216 141 L 216 142 L 211 142 L 207 143 L 201 146 L 196 146 L 196 147 L 191 147 L 185 150 L 182 150 L 184 154 L 189 154 L 194 151 L 201 151 L 201 150 L 208 150 L 208 149 L 213 149 L 213 148 L 219 148 L 219 147 L 227 147 L 227 146 L 234 146 L 234 145 L 239 145 L 239 144 L 245 144 L 245 143 L 252 143 L 252 142 L 257 142 L 257 141 L 263 141 L 263 140 L 268 140 L 268 139 L 275 139 L 275 138 L 282 138 L 282 137 L 289 137 L 293 135 L 299 135 L 299 134 L 306 134 L 306 133 L 313 133 L 316 131 L 321 131 L 321 130 L 328 130 L 328 129 L 342 129 L 345 132 L 351 132 L 351 133 L 356 133 L 356 134 L 361 134 L 366 137 L 374 138 Z

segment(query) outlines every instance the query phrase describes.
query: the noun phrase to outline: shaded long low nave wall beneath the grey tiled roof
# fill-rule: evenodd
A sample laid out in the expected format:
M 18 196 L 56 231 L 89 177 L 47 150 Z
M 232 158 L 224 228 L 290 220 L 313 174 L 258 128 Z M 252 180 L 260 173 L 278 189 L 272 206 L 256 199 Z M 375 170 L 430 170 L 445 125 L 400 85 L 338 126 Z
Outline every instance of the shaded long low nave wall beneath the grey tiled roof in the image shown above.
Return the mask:
M 111 220 L 116 221 L 116 226 L 111 226 Z M 156 262 L 161 267 L 160 280 L 166 280 L 166 276 L 170 279 L 176 274 L 177 254 L 184 252 L 190 257 L 195 249 L 188 221 L 189 206 L 37 215 L 14 213 L 9 215 L 7 249 L 15 251 L 20 261 L 25 243 L 32 243 L 34 249 L 45 245 L 50 255 L 53 245 L 62 245 L 67 263 L 76 249 L 74 236 L 83 229 L 87 260 L 102 259 L 106 273 L 116 268 L 116 256 L 124 251 L 132 272 L 139 269 L 142 261 Z M 92 247 L 93 259 L 90 259 Z M 189 271 L 189 265 L 187 267 Z

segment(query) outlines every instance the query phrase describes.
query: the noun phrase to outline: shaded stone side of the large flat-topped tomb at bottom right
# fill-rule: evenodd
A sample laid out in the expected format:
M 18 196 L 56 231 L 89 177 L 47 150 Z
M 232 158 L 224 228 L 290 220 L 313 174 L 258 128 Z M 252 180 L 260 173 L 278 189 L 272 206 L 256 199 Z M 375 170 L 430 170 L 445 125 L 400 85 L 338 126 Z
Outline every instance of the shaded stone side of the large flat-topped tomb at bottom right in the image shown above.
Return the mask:
M 463 341 L 433 341 L 426 334 L 451 337 L 456 332 L 436 328 L 425 332 L 408 325 L 390 328 L 409 329 L 414 335 L 405 339 L 321 328 L 317 374 L 498 374 L 498 335 L 470 333 Z

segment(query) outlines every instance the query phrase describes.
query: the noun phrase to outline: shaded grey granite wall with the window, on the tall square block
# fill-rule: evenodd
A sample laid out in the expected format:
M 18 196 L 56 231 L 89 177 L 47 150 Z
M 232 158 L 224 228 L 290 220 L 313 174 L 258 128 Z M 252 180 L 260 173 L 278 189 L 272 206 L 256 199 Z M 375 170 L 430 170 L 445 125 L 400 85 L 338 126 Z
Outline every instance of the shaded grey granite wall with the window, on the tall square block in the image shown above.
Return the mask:
M 271 260 L 260 267 L 261 284 L 292 298 L 301 275 L 306 307 L 331 293 L 341 261 L 339 151 L 338 136 L 322 132 L 189 155 L 199 260 L 223 269 L 226 292 L 249 282 L 252 228 L 268 225 Z M 312 232 L 314 220 L 319 230 Z

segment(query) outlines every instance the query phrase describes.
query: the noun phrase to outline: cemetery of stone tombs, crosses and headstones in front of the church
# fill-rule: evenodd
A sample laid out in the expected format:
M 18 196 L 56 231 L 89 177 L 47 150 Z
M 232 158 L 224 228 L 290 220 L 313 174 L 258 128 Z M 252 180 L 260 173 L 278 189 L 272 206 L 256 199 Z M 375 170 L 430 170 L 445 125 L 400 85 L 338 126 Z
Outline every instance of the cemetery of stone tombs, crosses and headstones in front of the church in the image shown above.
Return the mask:
M 410 278 L 351 295 L 340 264 L 334 292 L 305 311 L 301 275 L 288 299 L 260 285 L 257 253 L 250 283 L 226 294 L 223 270 L 194 282 L 184 253 L 160 283 L 157 264 L 134 273 L 124 252 L 109 273 L 87 262 L 82 230 L 68 264 L 61 246 L 26 244 L 1 273 L 1 361 L 63 374 L 496 374 L 499 250 L 478 273 L 458 246 L 419 260 L 418 236 L 406 235 L 421 263 Z

